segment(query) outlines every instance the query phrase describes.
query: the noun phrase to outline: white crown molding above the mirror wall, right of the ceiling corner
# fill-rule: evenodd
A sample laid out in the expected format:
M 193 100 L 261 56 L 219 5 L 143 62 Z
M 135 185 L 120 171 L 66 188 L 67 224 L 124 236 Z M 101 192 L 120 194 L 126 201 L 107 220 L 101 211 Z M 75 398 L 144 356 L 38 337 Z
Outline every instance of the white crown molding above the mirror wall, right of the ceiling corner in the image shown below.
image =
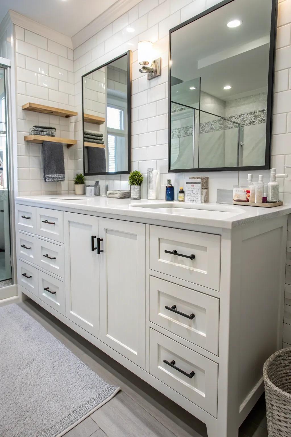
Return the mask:
M 95 20 L 91 21 L 91 23 L 87 24 L 87 26 L 72 36 L 73 48 L 79 47 L 79 45 L 83 44 L 87 39 L 96 35 L 97 32 L 140 3 L 140 1 L 141 0 L 118 0 L 116 3 L 113 3 L 112 6 L 96 17 Z

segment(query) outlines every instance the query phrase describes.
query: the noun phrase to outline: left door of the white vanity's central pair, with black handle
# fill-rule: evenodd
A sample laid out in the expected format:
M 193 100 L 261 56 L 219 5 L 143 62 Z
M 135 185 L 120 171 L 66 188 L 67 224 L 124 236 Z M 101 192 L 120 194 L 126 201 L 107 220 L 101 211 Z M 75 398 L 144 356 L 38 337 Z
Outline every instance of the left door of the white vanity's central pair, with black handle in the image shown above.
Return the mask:
M 98 218 L 64 212 L 66 316 L 99 338 Z M 95 237 L 92 240 L 92 237 Z

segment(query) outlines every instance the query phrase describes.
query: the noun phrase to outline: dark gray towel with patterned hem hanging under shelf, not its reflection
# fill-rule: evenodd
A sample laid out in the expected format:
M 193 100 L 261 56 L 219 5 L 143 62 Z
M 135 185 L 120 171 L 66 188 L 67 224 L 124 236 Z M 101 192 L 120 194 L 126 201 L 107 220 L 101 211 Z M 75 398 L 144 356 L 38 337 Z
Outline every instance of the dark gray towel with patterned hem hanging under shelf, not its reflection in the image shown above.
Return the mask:
M 45 182 L 62 182 L 65 180 L 64 149 L 61 142 L 44 141 L 42 143 L 44 154 L 44 179 Z

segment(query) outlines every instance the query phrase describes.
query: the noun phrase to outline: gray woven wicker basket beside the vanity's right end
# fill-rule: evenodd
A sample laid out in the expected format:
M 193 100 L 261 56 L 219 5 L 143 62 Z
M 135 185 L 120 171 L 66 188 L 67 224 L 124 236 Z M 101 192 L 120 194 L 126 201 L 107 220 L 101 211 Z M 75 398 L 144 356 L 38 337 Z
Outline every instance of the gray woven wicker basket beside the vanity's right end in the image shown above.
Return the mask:
M 278 350 L 265 362 L 267 427 L 269 437 L 291 436 L 291 348 Z

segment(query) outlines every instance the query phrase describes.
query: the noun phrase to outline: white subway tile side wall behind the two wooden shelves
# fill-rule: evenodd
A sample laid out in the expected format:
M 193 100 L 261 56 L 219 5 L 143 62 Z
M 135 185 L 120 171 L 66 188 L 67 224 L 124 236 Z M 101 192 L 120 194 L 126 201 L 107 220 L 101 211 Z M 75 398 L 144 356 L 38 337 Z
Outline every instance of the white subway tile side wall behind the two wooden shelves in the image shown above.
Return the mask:
M 72 50 L 41 35 L 15 28 L 17 77 L 18 194 L 68 194 L 73 189 L 75 152 L 64 145 L 65 181 L 45 182 L 42 145 L 24 141 L 33 125 L 56 128 L 55 136 L 74 138 L 74 118 L 23 111 L 25 103 L 75 110 Z M 70 59 L 71 58 L 71 59 Z

